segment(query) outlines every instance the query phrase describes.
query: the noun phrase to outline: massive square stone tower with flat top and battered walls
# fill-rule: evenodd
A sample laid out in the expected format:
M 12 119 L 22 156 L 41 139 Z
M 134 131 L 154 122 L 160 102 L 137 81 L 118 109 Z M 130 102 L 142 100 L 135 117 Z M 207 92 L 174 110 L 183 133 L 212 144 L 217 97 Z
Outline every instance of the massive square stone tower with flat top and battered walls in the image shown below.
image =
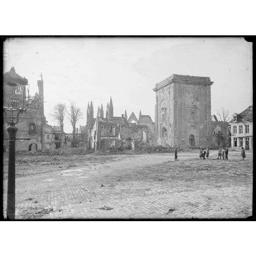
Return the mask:
M 157 144 L 211 146 L 211 82 L 208 77 L 173 74 L 156 83 Z

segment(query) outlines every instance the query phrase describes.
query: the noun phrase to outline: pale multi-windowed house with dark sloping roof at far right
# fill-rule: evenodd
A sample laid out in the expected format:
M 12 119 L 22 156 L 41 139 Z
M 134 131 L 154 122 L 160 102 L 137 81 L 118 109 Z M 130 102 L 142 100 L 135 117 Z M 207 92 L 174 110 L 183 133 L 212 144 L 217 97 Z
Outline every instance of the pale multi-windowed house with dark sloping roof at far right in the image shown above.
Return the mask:
M 245 150 L 253 150 L 252 113 L 252 106 L 249 106 L 240 114 L 234 113 L 233 120 L 229 123 L 231 146 L 234 149 L 244 147 Z

